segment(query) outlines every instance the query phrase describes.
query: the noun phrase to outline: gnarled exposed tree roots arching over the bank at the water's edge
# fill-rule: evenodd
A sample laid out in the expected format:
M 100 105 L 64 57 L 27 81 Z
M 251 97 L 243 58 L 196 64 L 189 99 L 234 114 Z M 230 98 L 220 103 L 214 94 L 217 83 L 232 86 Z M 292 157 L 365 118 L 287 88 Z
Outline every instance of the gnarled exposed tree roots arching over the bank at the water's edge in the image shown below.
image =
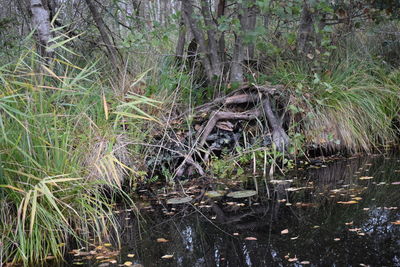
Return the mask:
M 269 129 L 264 135 L 272 137 L 271 141 L 278 151 L 285 151 L 290 142 L 282 125 L 285 110 L 281 111 L 279 116 L 278 108 L 273 105 L 276 102 L 286 102 L 287 96 L 283 91 L 283 86 L 245 84 L 225 97 L 216 98 L 196 107 L 192 113 L 184 112 L 175 118 L 174 120 L 183 121 L 189 114 L 193 118 L 192 127 L 189 127 L 184 138 L 179 141 L 182 145 L 179 146 L 176 156 L 181 160 L 178 166 L 173 168 L 175 176 L 189 176 L 193 173 L 204 175 L 202 163 L 208 162 L 210 154 L 216 149 L 210 145 L 211 141 L 216 140 L 213 137 L 214 133 L 241 131 L 234 129 L 234 123 L 238 121 L 264 121 L 264 128 Z M 174 142 L 176 143 L 176 140 Z

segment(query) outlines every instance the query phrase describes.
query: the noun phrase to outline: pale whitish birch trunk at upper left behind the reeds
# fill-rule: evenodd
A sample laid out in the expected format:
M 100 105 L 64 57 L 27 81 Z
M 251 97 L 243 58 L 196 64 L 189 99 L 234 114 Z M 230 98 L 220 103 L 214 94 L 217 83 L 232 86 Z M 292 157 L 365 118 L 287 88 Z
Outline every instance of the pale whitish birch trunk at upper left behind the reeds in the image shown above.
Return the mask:
M 52 38 L 50 15 L 41 0 L 31 0 L 32 24 L 36 29 L 39 41 L 39 54 L 49 61 L 54 56 L 54 51 L 49 48 Z

